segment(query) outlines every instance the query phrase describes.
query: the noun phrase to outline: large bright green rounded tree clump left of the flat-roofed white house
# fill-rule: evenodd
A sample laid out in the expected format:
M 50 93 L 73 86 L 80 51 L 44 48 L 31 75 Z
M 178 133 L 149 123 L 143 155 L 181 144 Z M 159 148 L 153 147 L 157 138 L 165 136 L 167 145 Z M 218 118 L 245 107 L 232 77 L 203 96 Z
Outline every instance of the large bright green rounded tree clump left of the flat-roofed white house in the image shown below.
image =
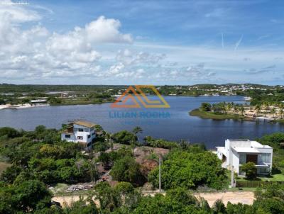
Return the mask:
M 198 186 L 221 189 L 227 186 L 226 169 L 221 167 L 221 161 L 212 152 L 173 150 L 165 157 L 161 170 L 164 189 Z M 151 171 L 148 179 L 157 187 L 158 169 Z

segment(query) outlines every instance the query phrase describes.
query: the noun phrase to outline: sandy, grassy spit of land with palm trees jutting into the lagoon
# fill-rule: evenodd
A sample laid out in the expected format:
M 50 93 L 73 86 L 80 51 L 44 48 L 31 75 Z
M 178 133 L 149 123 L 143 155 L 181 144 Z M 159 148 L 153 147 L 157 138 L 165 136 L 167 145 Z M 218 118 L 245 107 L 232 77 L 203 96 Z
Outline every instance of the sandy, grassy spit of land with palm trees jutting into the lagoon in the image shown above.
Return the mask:
M 268 120 L 284 123 L 284 103 L 261 103 L 256 106 L 239 103 L 202 103 L 200 108 L 190 111 L 190 116 L 213 120 Z

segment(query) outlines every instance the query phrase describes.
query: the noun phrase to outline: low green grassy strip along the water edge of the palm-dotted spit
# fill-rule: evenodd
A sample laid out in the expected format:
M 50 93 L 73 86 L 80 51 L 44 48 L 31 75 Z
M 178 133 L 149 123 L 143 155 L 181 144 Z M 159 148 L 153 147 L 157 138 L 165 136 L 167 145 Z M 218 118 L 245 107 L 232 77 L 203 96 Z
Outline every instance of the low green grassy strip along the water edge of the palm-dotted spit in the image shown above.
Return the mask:
M 200 111 L 200 109 L 194 109 L 190 111 L 190 116 L 200 117 L 202 119 L 214 119 L 214 120 L 226 120 L 226 119 L 233 119 L 233 120 L 241 120 L 244 119 L 243 116 L 236 115 L 236 114 L 216 114 L 207 111 Z

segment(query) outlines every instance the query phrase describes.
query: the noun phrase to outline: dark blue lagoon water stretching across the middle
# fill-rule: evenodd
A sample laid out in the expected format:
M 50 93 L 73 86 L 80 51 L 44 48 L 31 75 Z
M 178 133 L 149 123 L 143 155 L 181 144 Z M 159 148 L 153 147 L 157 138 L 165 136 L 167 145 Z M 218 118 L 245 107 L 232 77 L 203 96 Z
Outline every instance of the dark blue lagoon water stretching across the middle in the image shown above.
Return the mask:
M 165 96 L 170 108 L 110 108 L 110 103 L 84 106 L 42 106 L 0 111 L 0 127 L 9 126 L 33 130 L 37 125 L 60 128 L 72 120 L 89 120 L 115 133 L 140 126 L 143 136 L 167 140 L 203 142 L 212 149 L 224 145 L 226 138 L 255 139 L 262 135 L 283 132 L 284 125 L 237 120 L 204 120 L 189 116 L 188 112 L 201 103 L 221 101 L 244 103 L 242 96 Z

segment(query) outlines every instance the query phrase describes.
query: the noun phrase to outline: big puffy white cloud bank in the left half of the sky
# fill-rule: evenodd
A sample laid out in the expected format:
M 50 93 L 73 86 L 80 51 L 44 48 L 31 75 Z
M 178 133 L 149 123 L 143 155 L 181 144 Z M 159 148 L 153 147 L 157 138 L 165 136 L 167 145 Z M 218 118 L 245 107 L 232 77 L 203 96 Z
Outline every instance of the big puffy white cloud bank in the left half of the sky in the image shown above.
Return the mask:
M 1 79 L 103 77 L 99 64 L 102 54 L 94 47 L 132 42 L 130 34 L 119 31 L 118 20 L 104 16 L 67 33 L 50 33 L 36 22 L 35 26 L 22 30 L 24 23 L 41 17 L 28 6 L 9 3 L 0 4 Z M 119 71 L 119 67 L 109 70 Z

